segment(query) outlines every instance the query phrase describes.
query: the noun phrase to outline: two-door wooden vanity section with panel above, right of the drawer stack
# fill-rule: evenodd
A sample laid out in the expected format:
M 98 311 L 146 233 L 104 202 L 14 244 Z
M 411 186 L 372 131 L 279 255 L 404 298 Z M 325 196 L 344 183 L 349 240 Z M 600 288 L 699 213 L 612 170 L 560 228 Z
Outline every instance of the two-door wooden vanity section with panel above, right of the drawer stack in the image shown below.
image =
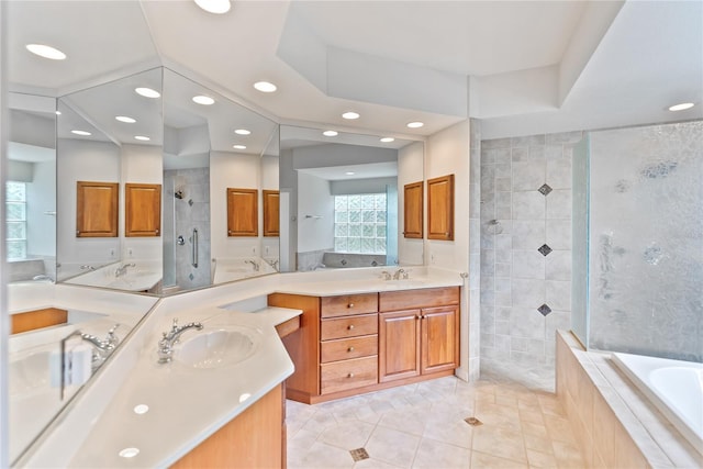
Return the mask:
M 459 366 L 459 287 L 381 292 L 379 311 L 379 382 Z

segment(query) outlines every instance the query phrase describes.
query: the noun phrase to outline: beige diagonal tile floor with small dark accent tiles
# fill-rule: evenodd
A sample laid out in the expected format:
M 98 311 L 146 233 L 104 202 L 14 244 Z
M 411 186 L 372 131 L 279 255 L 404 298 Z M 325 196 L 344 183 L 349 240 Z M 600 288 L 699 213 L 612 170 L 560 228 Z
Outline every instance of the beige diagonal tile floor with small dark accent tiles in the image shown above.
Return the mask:
M 288 467 L 582 468 L 556 395 L 504 372 L 483 371 L 476 383 L 448 377 L 316 405 L 288 401 Z M 481 424 L 471 426 L 468 417 Z M 355 462 L 350 451 L 360 448 L 369 458 Z

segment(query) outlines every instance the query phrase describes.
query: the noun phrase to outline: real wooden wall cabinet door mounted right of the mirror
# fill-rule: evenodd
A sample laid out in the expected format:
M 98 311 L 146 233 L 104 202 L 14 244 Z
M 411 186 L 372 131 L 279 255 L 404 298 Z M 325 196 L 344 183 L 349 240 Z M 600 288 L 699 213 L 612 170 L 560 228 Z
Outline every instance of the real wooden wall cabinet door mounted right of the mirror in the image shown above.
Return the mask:
M 427 239 L 454 241 L 454 175 L 427 180 Z

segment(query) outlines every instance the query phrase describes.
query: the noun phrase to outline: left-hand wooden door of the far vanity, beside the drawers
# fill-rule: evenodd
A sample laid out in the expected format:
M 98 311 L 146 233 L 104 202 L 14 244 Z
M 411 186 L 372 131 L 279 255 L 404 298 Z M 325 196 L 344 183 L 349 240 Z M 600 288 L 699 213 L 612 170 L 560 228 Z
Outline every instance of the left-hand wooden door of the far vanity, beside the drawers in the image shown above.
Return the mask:
M 420 310 L 379 314 L 379 382 L 420 375 Z

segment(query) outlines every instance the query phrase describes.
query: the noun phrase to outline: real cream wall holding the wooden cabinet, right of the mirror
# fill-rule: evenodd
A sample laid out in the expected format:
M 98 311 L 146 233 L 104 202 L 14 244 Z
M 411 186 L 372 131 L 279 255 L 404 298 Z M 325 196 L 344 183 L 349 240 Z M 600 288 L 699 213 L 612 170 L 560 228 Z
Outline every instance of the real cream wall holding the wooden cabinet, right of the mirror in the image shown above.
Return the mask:
M 426 239 L 425 259 L 432 266 L 460 272 L 469 271 L 469 121 L 445 129 L 427 139 L 425 179 L 454 175 L 454 241 Z M 469 357 L 469 297 L 466 290 L 461 295 L 460 365 L 457 370 L 457 376 L 464 379 L 477 376 L 477 371 L 469 368 L 479 366 L 478 360 Z

